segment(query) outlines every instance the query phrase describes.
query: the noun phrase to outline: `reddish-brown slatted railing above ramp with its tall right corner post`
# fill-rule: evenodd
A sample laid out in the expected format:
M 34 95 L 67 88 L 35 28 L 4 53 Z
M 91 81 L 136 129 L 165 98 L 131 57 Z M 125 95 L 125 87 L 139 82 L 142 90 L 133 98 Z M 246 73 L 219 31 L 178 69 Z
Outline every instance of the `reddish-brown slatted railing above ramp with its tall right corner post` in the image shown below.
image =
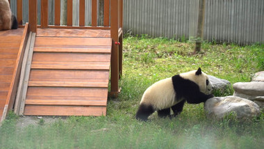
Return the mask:
M 49 0 L 41 0 L 41 19 L 38 22 L 38 0 L 28 0 L 28 25 L 30 31 L 37 33 L 38 28 L 63 29 L 110 29 L 113 39 L 111 54 L 111 91 L 112 95 L 119 92 L 118 80 L 122 75 L 122 28 L 123 28 L 123 0 L 104 0 L 104 26 L 97 24 L 97 2 L 91 0 L 91 24 L 85 26 L 85 0 L 79 0 L 79 26 L 72 26 L 72 4 L 74 0 L 67 0 L 67 26 L 60 25 L 60 0 L 54 1 L 54 24 L 48 22 Z M 11 1 L 12 2 L 12 1 Z M 17 0 L 17 21 L 22 26 L 22 0 Z

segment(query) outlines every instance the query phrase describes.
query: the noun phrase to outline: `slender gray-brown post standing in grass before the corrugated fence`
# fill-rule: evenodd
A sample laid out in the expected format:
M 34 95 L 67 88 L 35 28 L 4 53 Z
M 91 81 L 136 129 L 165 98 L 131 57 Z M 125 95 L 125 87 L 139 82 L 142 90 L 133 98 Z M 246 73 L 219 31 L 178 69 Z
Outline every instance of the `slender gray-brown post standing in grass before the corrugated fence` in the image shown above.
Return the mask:
M 204 30 L 204 8 L 205 0 L 199 0 L 199 13 L 198 13 L 198 24 L 197 24 L 197 39 L 195 42 L 195 52 L 201 51 L 201 39 L 203 37 Z

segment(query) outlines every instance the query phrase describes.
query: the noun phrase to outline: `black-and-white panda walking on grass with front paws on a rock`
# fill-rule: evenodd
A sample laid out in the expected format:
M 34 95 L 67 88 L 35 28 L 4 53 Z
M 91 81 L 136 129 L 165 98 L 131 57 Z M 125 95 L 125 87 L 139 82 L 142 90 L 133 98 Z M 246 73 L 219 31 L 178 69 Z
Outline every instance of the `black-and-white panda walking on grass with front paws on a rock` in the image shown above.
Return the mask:
M 213 85 L 201 68 L 162 79 L 149 86 L 142 95 L 135 117 L 146 121 L 154 111 L 162 118 L 177 116 L 183 111 L 185 101 L 190 104 L 206 102 L 213 97 L 212 90 Z M 172 116 L 170 109 L 174 112 Z

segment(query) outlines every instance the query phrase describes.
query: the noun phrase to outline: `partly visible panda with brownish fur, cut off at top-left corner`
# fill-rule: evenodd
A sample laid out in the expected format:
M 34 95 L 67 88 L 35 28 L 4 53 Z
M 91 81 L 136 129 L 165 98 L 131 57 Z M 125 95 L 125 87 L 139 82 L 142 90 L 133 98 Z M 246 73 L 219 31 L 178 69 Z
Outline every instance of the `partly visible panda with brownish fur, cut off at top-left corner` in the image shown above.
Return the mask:
M 12 15 L 8 0 L 0 0 L 0 31 L 17 29 L 17 18 Z

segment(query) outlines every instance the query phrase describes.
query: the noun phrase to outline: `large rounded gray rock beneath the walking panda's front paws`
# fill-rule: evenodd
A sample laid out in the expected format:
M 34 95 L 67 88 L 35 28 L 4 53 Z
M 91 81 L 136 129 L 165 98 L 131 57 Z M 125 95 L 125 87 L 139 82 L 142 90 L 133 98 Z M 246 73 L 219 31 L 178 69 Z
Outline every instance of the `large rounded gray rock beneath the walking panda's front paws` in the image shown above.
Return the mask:
M 233 111 L 238 119 L 247 119 L 261 112 L 255 102 L 235 96 L 212 97 L 205 102 L 204 109 L 209 117 L 216 118 L 224 118 L 226 114 Z

